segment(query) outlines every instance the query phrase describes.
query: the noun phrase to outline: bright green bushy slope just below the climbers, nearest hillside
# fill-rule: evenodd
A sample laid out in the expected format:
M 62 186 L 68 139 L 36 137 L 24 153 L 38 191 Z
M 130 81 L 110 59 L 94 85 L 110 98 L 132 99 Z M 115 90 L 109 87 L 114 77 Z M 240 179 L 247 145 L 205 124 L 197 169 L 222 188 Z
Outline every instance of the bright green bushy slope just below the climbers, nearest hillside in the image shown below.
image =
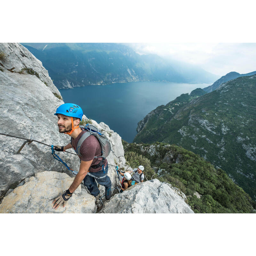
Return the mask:
M 158 179 L 179 188 L 195 213 L 255 212 L 256 203 L 242 188 L 223 170 L 215 169 L 193 152 L 163 143 L 128 144 L 123 141 L 123 145 L 129 163 L 144 164 L 148 180 Z

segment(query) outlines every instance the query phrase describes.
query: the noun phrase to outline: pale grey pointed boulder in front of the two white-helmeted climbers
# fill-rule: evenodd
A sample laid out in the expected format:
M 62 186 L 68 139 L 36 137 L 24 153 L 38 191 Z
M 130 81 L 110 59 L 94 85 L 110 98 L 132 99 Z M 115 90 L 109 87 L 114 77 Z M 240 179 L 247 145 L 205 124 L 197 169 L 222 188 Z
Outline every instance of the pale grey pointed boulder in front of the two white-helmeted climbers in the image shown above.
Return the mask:
M 193 213 L 193 211 L 169 185 L 154 179 L 114 195 L 109 202 L 105 202 L 100 213 Z

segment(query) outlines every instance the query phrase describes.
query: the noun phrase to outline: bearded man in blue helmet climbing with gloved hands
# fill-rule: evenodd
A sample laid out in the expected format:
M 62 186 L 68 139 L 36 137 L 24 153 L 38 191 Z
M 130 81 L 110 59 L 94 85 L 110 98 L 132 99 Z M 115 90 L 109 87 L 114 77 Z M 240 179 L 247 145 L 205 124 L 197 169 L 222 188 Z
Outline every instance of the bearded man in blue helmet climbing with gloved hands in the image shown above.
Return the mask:
M 74 148 L 76 150 L 77 143 L 81 136 L 87 132 L 79 127 L 79 123 L 82 120 L 83 110 L 76 104 L 65 103 L 57 108 L 54 114 L 58 117 L 58 127 L 60 133 L 65 133 L 71 136 L 71 142 L 66 146 L 54 146 L 56 151 L 64 151 L 68 148 Z M 58 209 L 60 205 L 67 203 L 68 199 L 72 196 L 76 188 L 84 180 L 84 186 L 88 188 L 92 196 L 98 196 L 100 190 L 97 186 L 97 182 L 105 187 L 105 196 L 109 200 L 111 197 L 111 180 L 107 176 L 108 173 L 108 161 L 107 159 L 100 157 L 101 148 L 100 143 L 94 135 L 87 137 L 80 146 L 80 168 L 79 172 L 71 184 L 71 186 L 60 196 L 56 197 L 52 204 L 54 209 Z M 98 156 L 99 158 L 96 158 Z

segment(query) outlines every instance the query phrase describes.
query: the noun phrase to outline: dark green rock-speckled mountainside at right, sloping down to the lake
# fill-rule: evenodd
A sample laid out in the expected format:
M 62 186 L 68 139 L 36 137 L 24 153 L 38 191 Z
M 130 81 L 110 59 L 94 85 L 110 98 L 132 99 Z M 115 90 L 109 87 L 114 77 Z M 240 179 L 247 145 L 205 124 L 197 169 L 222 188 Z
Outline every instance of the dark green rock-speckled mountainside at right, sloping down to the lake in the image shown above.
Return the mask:
M 226 82 L 188 103 L 186 94 L 181 96 L 140 121 L 134 142 L 159 141 L 191 150 L 256 199 L 256 75 Z

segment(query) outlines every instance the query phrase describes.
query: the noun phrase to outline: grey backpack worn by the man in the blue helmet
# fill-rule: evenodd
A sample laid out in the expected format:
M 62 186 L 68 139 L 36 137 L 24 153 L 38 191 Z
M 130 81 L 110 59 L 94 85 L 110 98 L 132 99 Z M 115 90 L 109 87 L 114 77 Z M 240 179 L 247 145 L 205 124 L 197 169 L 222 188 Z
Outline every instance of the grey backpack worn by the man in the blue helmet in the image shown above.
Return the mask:
M 97 140 L 100 142 L 100 149 L 101 149 L 101 156 L 94 156 L 94 158 L 98 158 L 98 157 L 106 158 L 111 151 L 111 144 L 108 138 L 106 137 L 106 135 L 104 135 L 103 133 L 100 133 L 100 130 L 92 124 L 86 124 L 85 126 L 79 125 L 79 127 L 82 129 L 82 131 L 88 131 L 88 132 L 85 132 L 77 142 L 77 145 L 76 145 L 77 155 L 81 156 L 80 147 L 84 142 L 84 140 L 88 138 L 90 135 L 94 135 L 97 138 Z

